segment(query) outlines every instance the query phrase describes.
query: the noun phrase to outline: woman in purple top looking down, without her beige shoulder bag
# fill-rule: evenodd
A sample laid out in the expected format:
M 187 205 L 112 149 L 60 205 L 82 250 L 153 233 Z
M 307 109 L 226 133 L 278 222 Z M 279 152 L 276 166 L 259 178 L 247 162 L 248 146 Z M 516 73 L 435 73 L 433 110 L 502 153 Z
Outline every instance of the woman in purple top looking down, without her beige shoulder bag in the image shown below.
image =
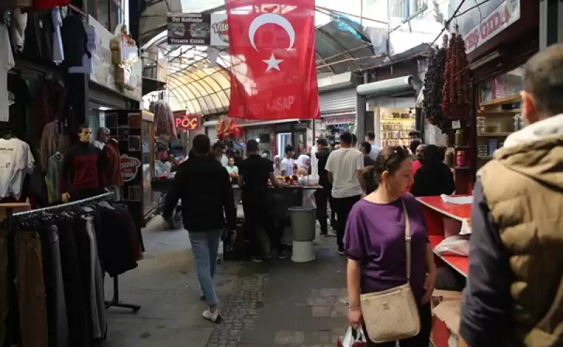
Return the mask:
M 378 188 L 355 204 L 346 223 L 348 319 L 353 327 L 362 324 L 360 294 L 384 291 L 407 282 L 404 202 L 412 238 L 410 284 L 419 305 L 421 325 L 419 334 L 401 340 L 400 346 L 428 347 L 436 265 L 424 215 L 408 193 L 412 185 L 412 159 L 401 147 L 386 147 L 379 153 L 373 170 Z M 396 343 L 374 343 L 368 339 L 367 346 L 394 347 Z

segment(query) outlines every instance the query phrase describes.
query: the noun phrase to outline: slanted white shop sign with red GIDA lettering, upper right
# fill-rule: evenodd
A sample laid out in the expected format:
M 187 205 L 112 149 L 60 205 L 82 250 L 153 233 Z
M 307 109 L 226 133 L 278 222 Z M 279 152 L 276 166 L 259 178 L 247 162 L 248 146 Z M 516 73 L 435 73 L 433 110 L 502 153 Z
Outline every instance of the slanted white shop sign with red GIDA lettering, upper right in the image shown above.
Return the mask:
M 477 47 L 516 22 L 519 18 L 519 0 L 503 1 L 495 11 L 484 18 L 479 25 L 474 27 L 473 30 L 464 37 L 466 53 L 474 51 Z

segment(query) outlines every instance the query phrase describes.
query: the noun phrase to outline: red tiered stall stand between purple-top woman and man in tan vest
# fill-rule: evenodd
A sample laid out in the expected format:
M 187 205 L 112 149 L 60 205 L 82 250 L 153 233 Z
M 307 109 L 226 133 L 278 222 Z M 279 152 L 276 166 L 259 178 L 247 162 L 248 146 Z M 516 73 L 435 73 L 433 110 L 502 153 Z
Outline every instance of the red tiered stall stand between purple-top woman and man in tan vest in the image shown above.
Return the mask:
M 444 203 L 440 196 L 424 196 L 417 198 L 422 210 L 424 212 L 424 217 L 426 219 L 426 224 L 428 225 L 429 241 L 432 248 L 436 248 L 438 244 L 445 239 L 446 236 L 453 236 L 458 234 L 461 229 L 463 222 L 469 223 L 469 218 L 471 216 L 471 204 L 455 205 L 450 203 Z M 456 272 L 459 272 L 464 277 L 467 277 L 469 272 L 469 259 L 464 256 L 448 256 L 436 255 L 436 265 L 449 266 L 453 268 Z M 434 293 L 434 300 L 436 300 L 440 295 Z M 449 292 L 450 294 L 455 294 L 455 302 L 448 303 L 450 306 L 445 308 L 448 311 L 446 316 L 450 317 L 450 321 L 458 321 L 459 318 L 455 318 L 455 315 L 459 316 L 459 305 L 460 305 L 460 293 Z M 443 298 L 440 298 L 443 299 Z M 447 300 L 446 300 L 447 301 Z M 444 310 L 442 304 L 438 305 Z M 452 346 L 450 343 L 452 341 L 450 322 L 444 322 L 440 318 L 434 316 L 434 323 L 432 325 L 431 341 L 432 346 L 435 347 L 447 347 Z M 452 319 L 453 317 L 453 319 Z

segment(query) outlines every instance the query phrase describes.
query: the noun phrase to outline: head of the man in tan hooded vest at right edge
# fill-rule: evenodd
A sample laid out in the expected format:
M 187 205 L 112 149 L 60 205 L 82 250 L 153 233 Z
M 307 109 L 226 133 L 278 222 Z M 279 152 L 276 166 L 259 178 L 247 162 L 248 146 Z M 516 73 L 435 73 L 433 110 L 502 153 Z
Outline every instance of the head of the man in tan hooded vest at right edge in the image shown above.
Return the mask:
M 563 113 L 563 44 L 542 49 L 524 65 L 524 91 L 533 96 L 538 113 Z

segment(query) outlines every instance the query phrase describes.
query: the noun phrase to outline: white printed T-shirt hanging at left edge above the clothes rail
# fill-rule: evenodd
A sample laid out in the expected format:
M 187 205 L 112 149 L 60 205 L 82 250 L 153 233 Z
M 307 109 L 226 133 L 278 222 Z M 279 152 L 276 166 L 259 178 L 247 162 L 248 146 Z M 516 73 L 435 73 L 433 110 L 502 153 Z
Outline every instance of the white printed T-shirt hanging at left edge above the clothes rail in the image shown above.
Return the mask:
M 0 139 L 0 198 L 20 198 L 23 180 L 33 171 L 34 163 L 30 146 L 24 141 Z

